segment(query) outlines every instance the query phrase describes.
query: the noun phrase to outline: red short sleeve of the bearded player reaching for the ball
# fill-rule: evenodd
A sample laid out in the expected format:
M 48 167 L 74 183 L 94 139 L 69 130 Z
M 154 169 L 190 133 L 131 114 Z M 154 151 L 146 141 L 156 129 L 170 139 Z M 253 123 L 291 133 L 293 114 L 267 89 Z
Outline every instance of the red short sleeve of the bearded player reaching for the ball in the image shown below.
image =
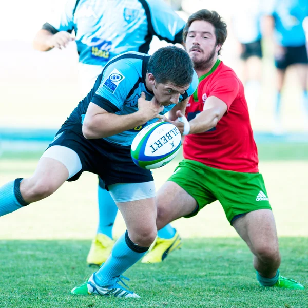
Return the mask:
M 229 110 L 230 105 L 238 96 L 239 90 L 240 84 L 238 79 L 234 74 L 227 71 L 215 76 L 207 97 L 215 96 L 219 98 L 226 103 Z

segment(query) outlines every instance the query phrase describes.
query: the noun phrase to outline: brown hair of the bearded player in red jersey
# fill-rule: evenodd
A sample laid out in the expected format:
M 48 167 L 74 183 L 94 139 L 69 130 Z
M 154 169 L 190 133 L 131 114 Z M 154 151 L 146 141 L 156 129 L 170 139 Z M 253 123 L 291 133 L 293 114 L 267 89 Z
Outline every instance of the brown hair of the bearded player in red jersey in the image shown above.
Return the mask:
M 223 45 L 227 38 L 227 24 L 222 20 L 216 11 L 200 10 L 189 16 L 183 29 L 183 42 L 186 41 L 187 33 L 192 22 L 205 21 L 212 24 L 215 28 L 216 45 Z M 220 54 L 220 50 L 218 51 Z

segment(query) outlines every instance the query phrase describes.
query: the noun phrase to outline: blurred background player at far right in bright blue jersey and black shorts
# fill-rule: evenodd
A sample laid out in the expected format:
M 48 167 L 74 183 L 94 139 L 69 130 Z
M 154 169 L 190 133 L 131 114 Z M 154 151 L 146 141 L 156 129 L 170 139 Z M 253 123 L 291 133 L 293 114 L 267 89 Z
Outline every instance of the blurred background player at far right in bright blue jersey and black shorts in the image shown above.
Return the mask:
M 265 17 L 266 35 L 273 37 L 274 57 L 277 71 L 277 92 L 274 109 L 274 132 L 282 133 L 281 91 L 284 86 L 286 69 L 294 65 L 298 83 L 302 91 L 301 105 L 308 128 L 308 57 L 306 37 L 303 28 L 304 18 L 308 16 L 306 0 L 273 0 Z M 290 102 L 294 104 L 294 102 Z

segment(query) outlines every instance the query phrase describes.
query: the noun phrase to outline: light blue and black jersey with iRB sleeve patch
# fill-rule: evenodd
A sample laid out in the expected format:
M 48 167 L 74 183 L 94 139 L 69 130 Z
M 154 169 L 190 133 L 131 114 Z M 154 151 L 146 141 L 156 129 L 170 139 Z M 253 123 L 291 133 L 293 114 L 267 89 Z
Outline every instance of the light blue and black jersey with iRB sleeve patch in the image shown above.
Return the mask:
M 93 89 L 84 98 L 75 110 L 71 113 L 68 121 L 82 123 L 89 103 L 92 102 L 108 112 L 125 115 L 138 111 L 138 99 L 141 92 L 145 93 L 146 100 L 153 98 L 153 92 L 149 91 L 145 85 L 147 64 L 149 55 L 139 52 L 126 52 L 110 60 L 103 72 L 98 76 Z M 194 72 L 194 79 L 190 87 L 180 96 L 180 101 L 188 98 L 198 87 L 198 76 Z M 175 104 L 166 106 L 160 113 L 164 115 L 171 110 Z M 104 138 L 105 140 L 129 146 L 136 134 L 145 126 L 156 122 L 152 119 L 142 126 L 135 127 L 114 136 Z

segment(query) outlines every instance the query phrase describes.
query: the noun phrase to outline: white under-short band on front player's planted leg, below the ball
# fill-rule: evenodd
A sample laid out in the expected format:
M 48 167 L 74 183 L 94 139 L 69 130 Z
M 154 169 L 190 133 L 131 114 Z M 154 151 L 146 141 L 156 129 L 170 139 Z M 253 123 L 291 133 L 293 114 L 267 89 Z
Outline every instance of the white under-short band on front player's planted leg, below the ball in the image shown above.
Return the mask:
M 117 183 L 108 185 L 114 202 L 129 202 L 156 197 L 154 181 L 144 183 Z

